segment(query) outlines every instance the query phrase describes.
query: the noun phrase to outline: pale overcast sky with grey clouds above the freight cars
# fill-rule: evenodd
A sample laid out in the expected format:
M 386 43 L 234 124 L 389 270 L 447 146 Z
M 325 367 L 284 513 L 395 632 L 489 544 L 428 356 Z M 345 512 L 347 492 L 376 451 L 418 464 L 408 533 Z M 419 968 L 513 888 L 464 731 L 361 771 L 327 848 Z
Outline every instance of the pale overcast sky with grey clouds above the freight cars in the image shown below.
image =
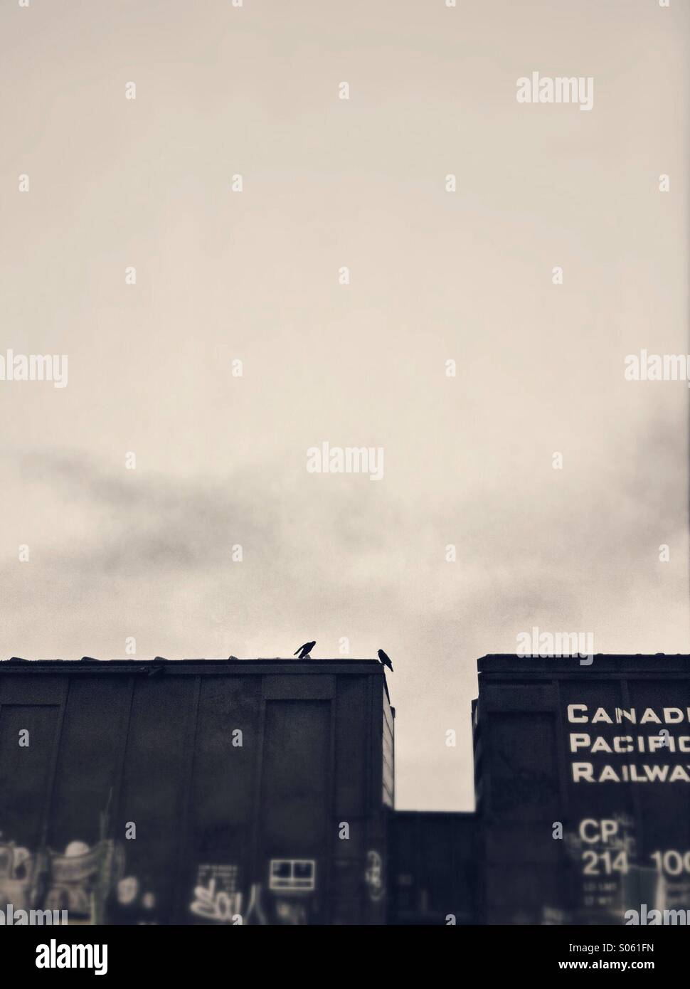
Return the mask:
M 467 809 L 478 656 L 687 652 L 688 389 L 624 358 L 688 351 L 688 20 L 4 0 L 0 355 L 68 384 L 0 382 L 0 656 L 383 647 L 398 807 Z

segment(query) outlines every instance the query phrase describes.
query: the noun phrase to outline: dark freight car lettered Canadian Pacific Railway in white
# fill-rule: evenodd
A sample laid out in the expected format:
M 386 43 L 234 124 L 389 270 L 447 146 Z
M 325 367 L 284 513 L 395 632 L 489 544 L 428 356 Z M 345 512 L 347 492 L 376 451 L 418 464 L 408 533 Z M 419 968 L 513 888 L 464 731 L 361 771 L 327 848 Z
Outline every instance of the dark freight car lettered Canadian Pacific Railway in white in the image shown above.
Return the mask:
M 484 922 L 690 909 L 690 657 L 486 656 L 478 671 Z

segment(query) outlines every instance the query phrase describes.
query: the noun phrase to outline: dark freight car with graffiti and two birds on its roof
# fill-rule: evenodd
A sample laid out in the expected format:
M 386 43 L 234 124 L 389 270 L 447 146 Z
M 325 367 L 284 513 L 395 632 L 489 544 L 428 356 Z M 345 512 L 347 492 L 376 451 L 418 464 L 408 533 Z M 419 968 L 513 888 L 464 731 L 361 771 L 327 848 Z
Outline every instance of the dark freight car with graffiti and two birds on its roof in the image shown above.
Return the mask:
M 385 920 L 393 718 L 369 660 L 0 664 L 0 908 Z

